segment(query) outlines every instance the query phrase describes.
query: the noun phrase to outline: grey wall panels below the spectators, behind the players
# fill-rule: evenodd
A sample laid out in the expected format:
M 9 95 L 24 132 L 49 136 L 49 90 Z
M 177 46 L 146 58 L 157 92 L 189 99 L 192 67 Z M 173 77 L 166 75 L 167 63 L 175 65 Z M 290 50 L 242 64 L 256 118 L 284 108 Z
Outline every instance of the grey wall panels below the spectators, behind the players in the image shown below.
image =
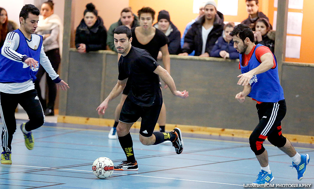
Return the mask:
M 177 89 L 188 90 L 189 97 L 180 99 L 169 89 L 162 90 L 167 123 L 253 130 L 258 123 L 256 102 L 247 97 L 240 104 L 235 99 L 243 89 L 236 84 L 241 74 L 238 64 L 238 61 L 217 58 L 171 56 L 171 76 Z M 282 86 L 288 110 L 282 127 L 284 133 L 314 135 L 311 83 L 314 66 L 300 65 L 283 64 Z M 120 96 L 110 102 L 104 116 L 99 116 L 96 108 L 104 100 L 101 94 L 106 98 L 117 78 L 116 54 L 110 51 L 79 54 L 72 49 L 66 115 L 114 119 Z

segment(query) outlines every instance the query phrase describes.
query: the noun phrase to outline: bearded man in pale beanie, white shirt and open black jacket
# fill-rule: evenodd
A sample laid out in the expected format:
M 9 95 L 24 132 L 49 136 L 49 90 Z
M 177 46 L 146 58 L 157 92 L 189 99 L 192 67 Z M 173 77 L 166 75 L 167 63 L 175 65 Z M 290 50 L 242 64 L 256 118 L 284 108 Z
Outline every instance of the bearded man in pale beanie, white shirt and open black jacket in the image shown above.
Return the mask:
M 209 57 L 211 49 L 222 34 L 224 25 L 224 15 L 217 11 L 216 2 L 208 1 L 204 6 L 204 15 L 187 31 L 183 53 L 179 55 L 188 55 L 195 50 L 194 56 Z

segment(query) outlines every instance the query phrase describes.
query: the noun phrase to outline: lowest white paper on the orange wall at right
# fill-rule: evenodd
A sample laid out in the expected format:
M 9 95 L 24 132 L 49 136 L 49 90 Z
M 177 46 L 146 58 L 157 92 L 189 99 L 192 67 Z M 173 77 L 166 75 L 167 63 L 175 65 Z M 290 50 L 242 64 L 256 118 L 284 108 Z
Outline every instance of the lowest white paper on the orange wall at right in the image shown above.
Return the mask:
M 286 57 L 300 59 L 301 37 L 287 35 Z

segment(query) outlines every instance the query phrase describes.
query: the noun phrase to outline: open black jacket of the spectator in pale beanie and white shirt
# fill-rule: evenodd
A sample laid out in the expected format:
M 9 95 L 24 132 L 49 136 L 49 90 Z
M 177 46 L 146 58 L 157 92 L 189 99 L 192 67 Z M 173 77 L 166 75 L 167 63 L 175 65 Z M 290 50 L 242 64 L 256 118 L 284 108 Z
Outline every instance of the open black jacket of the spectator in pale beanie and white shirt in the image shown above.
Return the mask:
M 182 52 L 192 53 L 195 50 L 194 56 L 199 56 L 202 54 L 202 25 L 205 22 L 205 15 L 201 16 L 195 23 L 192 24 L 191 28 L 187 31 L 184 37 L 184 44 Z M 210 54 L 213 49 L 215 42 L 222 35 L 224 30 L 224 15 L 217 11 L 214 20 L 214 28 L 209 32 L 206 42 L 205 53 Z

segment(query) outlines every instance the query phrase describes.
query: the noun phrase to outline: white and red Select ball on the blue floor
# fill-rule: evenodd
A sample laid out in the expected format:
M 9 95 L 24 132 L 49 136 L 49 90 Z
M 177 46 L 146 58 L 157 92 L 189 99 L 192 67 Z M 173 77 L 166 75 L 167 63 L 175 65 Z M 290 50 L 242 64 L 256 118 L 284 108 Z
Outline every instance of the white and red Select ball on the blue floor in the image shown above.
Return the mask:
M 95 176 L 104 179 L 112 175 L 114 165 L 111 159 L 99 157 L 94 161 L 92 169 Z

